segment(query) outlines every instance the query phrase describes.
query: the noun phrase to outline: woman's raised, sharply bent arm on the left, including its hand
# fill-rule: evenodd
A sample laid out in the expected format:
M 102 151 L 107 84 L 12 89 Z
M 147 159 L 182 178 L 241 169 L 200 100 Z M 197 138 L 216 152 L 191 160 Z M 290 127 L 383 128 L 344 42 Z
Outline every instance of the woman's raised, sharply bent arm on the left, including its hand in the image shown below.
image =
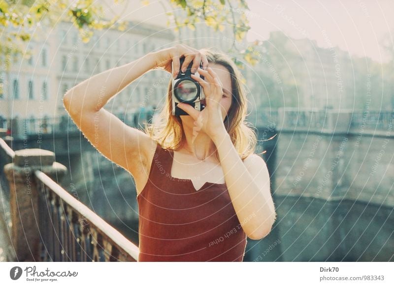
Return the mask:
M 200 60 L 207 64 L 206 58 L 201 59 L 197 50 L 178 45 L 149 53 L 125 65 L 99 73 L 72 87 L 64 95 L 64 106 L 84 136 L 102 155 L 131 172 L 137 190 L 141 190 L 147 181 L 157 143 L 102 107 L 151 69 L 159 68 L 171 72 L 173 60 L 176 67 L 174 70 L 179 70 L 179 57 L 186 54 L 189 55 L 183 66 L 192 60 L 196 61 L 193 65 L 196 68 Z

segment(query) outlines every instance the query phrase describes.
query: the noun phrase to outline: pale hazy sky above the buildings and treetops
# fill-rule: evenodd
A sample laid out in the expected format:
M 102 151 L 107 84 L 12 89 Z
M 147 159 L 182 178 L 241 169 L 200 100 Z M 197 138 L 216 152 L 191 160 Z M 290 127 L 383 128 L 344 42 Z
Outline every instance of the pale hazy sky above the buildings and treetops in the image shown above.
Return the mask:
M 163 25 L 167 0 L 104 0 L 109 14 L 123 12 L 124 19 Z M 218 0 L 219 2 L 219 0 Z M 247 39 L 265 40 L 271 31 L 316 40 L 320 47 L 338 46 L 351 55 L 387 62 L 383 41 L 394 46 L 394 0 L 247 0 L 251 29 Z M 105 8 L 106 7 L 106 8 Z M 237 11 L 235 10 L 235 13 Z M 238 12 L 239 13 L 239 12 Z

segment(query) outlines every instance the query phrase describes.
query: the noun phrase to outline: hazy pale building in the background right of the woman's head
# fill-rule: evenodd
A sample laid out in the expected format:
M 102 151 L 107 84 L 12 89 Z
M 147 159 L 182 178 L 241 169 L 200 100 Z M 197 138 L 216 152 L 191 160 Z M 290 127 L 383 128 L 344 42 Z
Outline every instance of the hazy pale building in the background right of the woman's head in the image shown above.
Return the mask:
M 360 108 L 355 104 L 359 59 L 348 52 L 318 47 L 308 38 L 292 39 L 281 31 L 271 32 L 255 51 L 260 61 L 247 68 L 245 77 L 257 109 Z

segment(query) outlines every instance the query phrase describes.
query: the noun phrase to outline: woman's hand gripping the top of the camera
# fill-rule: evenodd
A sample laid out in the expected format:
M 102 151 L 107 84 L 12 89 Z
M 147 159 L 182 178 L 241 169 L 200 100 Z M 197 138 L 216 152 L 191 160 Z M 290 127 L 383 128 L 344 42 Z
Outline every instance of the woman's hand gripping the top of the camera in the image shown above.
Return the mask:
M 182 66 L 180 66 L 179 58 L 185 56 Z M 155 68 L 164 69 L 172 76 L 176 78 L 179 70 L 186 71 L 189 63 L 193 60 L 192 73 L 197 71 L 197 68 L 202 62 L 202 68 L 208 67 L 208 60 L 206 56 L 197 49 L 189 47 L 187 45 L 176 45 L 171 48 L 163 49 L 158 52 L 154 52 Z M 172 71 L 171 63 L 174 62 L 174 70 Z

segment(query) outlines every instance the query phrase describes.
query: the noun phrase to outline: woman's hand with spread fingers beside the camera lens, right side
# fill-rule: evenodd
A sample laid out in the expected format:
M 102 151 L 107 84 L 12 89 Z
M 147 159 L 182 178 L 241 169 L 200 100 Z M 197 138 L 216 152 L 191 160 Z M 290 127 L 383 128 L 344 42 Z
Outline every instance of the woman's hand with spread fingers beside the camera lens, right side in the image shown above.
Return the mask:
M 218 75 L 212 68 L 208 67 L 207 70 L 198 68 L 197 71 L 200 75 L 204 76 L 205 80 L 194 74 L 192 74 L 191 77 L 203 88 L 206 103 L 205 108 L 202 111 L 197 111 L 186 103 L 178 103 L 178 107 L 187 112 L 195 120 L 193 138 L 197 136 L 195 131 L 197 133 L 202 131 L 213 140 L 215 134 L 225 130 L 222 107 L 220 104 L 223 96 L 222 84 Z

